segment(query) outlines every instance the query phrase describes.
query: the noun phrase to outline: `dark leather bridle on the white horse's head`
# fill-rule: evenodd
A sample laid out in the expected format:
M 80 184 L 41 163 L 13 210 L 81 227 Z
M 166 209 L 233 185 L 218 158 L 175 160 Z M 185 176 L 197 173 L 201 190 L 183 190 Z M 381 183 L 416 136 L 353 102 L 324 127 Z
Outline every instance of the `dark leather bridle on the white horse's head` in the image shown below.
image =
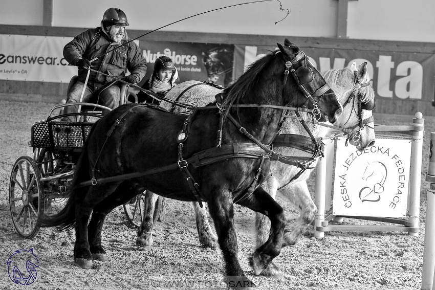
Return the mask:
M 346 144 L 347 141 L 349 141 L 349 139 L 352 138 L 352 140 L 354 142 L 358 142 L 361 136 L 361 130 L 364 129 L 365 126 L 374 129 L 374 127 L 370 127 L 367 124 L 372 123 L 373 121 L 375 121 L 375 117 L 370 116 L 366 119 L 362 119 L 362 110 L 373 110 L 375 108 L 375 100 L 368 100 L 365 103 L 362 102 L 362 93 L 361 93 L 361 88 L 370 85 L 370 82 L 367 81 L 365 83 L 361 83 L 361 79 L 358 76 L 358 72 L 354 71 L 354 75 L 355 75 L 355 81 L 354 81 L 354 88 L 352 93 L 349 95 L 349 98 L 347 98 L 346 102 L 343 105 L 343 108 L 349 104 L 352 101 L 352 111 L 355 111 L 355 114 L 357 114 L 358 119 L 359 119 L 359 123 L 353 127 L 351 127 L 350 129 L 352 129 L 352 133 L 349 133 L 347 135 L 346 138 Z M 356 97 L 355 97 L 356 96 Z M 355 100 L 358 101 L 358 113 L 355 109 Z M 352 113 L 349 115 L 349 119 L 351 118 Z M 349 121 L 349 119 L 347 121 Z M 347 123 L 346 121 L 346 123 Z M 359 126 L 359 130 L 354 131 L 354 129 L 356 127 Z

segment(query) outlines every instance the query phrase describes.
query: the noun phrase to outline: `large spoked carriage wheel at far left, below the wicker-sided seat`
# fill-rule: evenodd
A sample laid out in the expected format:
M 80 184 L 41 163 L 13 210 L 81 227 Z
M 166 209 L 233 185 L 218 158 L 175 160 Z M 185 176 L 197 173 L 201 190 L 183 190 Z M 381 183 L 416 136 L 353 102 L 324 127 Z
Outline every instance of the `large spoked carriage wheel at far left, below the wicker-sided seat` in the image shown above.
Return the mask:
M 31 157 L 17 159 L 9 182 L 9 205 L 15 229 L 27 239 L 39 231 L 38 219 L 43 212 L 40 178 L 39 168 Z

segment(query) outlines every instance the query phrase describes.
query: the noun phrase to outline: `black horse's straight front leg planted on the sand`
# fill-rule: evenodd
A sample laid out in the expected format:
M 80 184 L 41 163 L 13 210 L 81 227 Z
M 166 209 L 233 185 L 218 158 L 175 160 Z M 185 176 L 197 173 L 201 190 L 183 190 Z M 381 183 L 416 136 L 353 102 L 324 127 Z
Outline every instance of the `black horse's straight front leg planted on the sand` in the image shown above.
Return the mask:
M 237 236 L 234 229 L 234 207 L 232 195 L 229 191 L 219 189 L 207 190 L 211 198 L 208 200 L 210 215 L 214 221 L 214 228 L 217 233 L 217 241 L 222 250 L 225 261 L 226 278 L 229 287 L 233 289 L 246 289 L 244 286 L 255 285 L 245 276 L 245 273 L 238 262 L 237 257 Z M 243 285 L 243 286 L 241 286 Z

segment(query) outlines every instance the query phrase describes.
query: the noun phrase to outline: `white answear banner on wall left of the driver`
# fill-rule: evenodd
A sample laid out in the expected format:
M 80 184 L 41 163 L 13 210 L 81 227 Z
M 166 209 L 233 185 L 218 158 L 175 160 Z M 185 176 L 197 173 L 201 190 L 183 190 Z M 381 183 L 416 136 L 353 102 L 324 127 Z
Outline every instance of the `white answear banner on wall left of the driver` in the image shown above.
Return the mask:
M 63 58 L 72 37 L 0 35 L 0 79 L 66 82 L 77 75 L 77 67 Z

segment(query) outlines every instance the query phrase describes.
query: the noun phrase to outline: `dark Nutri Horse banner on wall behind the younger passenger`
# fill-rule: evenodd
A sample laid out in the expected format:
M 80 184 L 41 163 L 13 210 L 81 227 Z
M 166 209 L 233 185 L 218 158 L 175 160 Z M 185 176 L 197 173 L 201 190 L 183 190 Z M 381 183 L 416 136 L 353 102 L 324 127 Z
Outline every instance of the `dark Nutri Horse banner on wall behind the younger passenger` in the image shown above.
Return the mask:
M 154 62 L 163 55 L 174 62 L 179 82 L 211 81 L 226 87 L 233 79 L 233 45 L 141 40 L 139 47 L 147 62 L 146 76 L 140 84 L 151 77 Z

